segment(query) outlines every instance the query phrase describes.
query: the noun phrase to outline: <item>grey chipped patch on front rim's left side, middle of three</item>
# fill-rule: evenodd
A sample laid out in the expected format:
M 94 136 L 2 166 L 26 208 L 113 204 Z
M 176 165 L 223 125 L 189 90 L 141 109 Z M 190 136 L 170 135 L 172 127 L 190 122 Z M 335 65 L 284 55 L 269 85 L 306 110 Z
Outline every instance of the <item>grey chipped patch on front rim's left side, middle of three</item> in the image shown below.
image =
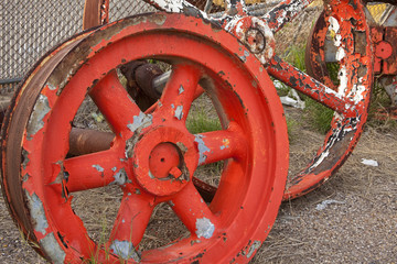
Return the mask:
M 28 198 L 28 207 L 34 221 L 34 230 L 41 232 L 44 235 L 46 233 L 45 229 L 49 228 L 49 222 L 45 217 L 43 202 L 35 193 L 30 196 L 29 191 L 25 190 L 25 194 Z

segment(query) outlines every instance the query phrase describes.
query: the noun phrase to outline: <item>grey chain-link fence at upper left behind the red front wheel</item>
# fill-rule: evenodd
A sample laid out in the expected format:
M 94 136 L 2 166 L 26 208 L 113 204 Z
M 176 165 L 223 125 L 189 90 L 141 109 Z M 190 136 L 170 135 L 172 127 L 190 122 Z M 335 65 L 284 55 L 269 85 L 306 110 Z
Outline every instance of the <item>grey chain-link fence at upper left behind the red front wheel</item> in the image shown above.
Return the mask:
M 9 92 L 52 46 L 82 31 L 85 0 L 0 1 L 0 88 Z M 110 1 L 110 21 L 154 11 L 143 1 Z

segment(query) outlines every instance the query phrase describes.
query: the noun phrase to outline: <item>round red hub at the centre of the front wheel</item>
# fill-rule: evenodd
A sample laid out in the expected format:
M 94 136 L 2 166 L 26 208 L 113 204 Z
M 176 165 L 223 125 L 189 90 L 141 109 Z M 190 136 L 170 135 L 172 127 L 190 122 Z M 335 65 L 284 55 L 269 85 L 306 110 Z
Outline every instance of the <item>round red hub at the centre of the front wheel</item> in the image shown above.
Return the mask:
M 133 175 L 139 185 L 157 196 L 180 191 L 197 166 L 192 135 L 174 127 L 155 127 L 138 138 L 133 147 L 127 146 L 126 153 L 132 157 Z

